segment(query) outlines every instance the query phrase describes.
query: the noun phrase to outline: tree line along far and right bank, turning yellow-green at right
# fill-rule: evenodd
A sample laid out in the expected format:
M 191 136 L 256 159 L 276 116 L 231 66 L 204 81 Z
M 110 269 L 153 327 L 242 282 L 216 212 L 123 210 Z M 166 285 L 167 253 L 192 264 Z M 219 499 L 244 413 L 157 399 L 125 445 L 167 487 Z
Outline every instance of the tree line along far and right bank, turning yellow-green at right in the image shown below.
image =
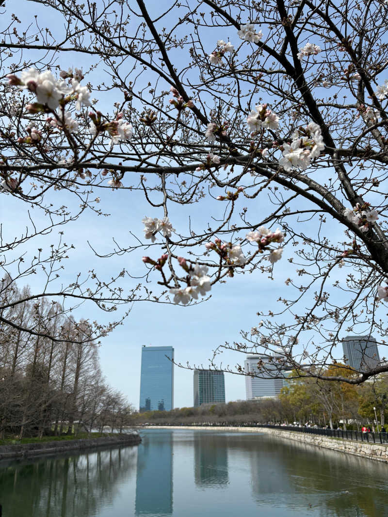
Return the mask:
M 342 364 L 333 364 L 326 376 L 351 375 Z M 185 425 L 192 423 L 286 423 L 294 422 L 331 429 L 360 430 L 363 423 L 374 426 L 375 410 L 379 424 L 388 418 L 388 376 L 374 377 L 362 386 L 345 382 L 333 383 L 314 378 L 289 381 L 278 398 L 254 401 L 203 404 L 199 407 L 182 407 L 172 411 L 151 411 L 133 415 L 136 423 Z

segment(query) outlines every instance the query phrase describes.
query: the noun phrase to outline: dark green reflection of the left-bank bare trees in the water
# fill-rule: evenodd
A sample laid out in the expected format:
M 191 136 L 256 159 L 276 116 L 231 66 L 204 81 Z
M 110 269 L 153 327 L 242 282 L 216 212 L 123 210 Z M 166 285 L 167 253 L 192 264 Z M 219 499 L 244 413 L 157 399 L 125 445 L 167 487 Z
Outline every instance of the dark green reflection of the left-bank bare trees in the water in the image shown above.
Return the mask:
M 136 468 L 136 447 L 0 464 L 7 517 L 88 517 L 112 503 Z

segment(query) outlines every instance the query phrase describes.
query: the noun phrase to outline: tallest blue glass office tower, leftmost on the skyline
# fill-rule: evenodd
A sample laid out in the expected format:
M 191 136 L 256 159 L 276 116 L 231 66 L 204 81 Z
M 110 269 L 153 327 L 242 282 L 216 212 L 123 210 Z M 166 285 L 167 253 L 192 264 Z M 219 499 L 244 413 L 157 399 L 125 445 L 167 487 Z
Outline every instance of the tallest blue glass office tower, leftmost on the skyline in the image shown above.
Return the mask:
M 167 357 L 166 357 L 167 356 Z M 141 349 L 140 411 L 170 411 L 174 407 L 174 348 Z

